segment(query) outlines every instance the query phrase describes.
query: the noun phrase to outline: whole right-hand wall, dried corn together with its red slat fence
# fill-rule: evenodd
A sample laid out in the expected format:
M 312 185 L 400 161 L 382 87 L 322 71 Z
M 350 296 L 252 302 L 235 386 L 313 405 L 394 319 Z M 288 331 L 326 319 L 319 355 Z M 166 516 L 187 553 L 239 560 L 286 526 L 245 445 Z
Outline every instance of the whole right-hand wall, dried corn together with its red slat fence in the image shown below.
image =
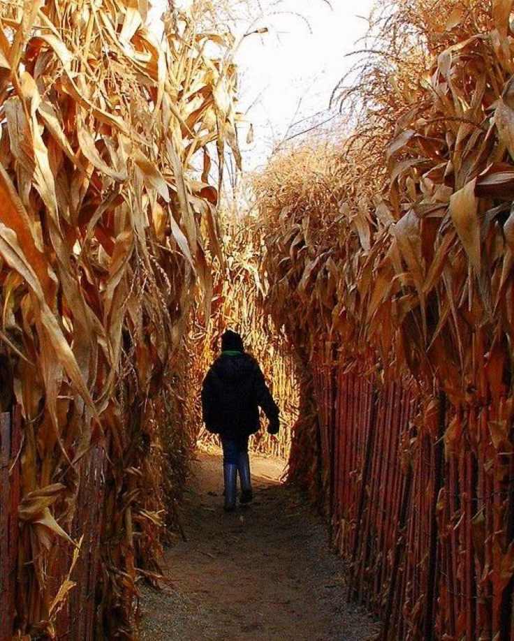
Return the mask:
M 291 470 L 384 638 L 514 635 L 512 8 L 389 3 L 335 94 L 354 133 L 254 183 L 314 389 Z

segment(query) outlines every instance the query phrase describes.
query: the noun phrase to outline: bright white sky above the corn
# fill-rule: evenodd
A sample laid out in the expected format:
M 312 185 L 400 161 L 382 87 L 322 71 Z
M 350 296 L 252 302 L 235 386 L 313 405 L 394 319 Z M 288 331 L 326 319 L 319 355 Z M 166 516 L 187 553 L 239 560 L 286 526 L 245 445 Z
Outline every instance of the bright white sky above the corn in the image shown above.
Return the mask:
M 259 2 L 255 2 L 258 15 Z M 264 163 L 291 122 L 328 110 L 338 80 L 353 64 L 345 55 L 367 31 L 364 17 L 374 0 L 261 0 L 267 16 L 240 32 L 267 27 L 268 34 L 244 38 L 237 51 L 240 67 L 239 110 L 254 124 L 254 143 L 246 144 L 247 126 L 240 130 L 246 169 Z M 158 20 L 166 0 L 153 0 L 151 20 Z M 253 7 L 252 7 L 253 10 Z M 298 104 L 300 103 L 300 108 Z M 298 110 L 298 112 L 297 112 Z M 327 112 L 326 117 L 330 117 Z M 321 119 L 325 115 L 321 115 Z M 335 119 L 334 124 L 337 123 Z M 291 133 L 308 127 L 298 125 Z

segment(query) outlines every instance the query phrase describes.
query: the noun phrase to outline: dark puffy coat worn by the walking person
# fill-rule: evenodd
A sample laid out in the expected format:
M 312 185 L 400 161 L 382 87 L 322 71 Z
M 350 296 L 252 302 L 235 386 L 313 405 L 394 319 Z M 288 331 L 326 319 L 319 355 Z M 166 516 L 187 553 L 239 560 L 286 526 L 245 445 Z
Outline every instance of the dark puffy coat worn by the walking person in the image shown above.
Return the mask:
M 259 429 L 259 407 L 271 425 L 278 425 L 279 408 L 258 362 L 247 353 L 222 353 L 203 381 L 205 427 L 227 439 L 254 434 Z

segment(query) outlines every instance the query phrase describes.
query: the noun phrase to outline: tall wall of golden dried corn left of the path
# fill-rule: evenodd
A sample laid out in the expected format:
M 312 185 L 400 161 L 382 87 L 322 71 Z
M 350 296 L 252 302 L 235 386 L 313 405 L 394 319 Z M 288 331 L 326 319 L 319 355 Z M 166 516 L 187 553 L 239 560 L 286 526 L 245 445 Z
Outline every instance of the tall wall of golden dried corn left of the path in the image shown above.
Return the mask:
M 219 251 L 209 145 L 237 156 L 233 43 L 200 2 L 161 41 L 147 10 L 0 5 L 1 640 L 131 638 L 184 481 L 179 351 Z

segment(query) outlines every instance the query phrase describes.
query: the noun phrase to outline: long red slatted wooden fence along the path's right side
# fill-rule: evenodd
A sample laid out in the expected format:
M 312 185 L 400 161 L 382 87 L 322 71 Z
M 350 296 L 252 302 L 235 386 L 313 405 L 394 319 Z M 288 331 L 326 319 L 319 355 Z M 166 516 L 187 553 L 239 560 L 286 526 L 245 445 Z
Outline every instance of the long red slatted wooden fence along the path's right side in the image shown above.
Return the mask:
M 316 364 L 323 504 L 384 640 L 514 640 L 512 399 L 450 406 Z

